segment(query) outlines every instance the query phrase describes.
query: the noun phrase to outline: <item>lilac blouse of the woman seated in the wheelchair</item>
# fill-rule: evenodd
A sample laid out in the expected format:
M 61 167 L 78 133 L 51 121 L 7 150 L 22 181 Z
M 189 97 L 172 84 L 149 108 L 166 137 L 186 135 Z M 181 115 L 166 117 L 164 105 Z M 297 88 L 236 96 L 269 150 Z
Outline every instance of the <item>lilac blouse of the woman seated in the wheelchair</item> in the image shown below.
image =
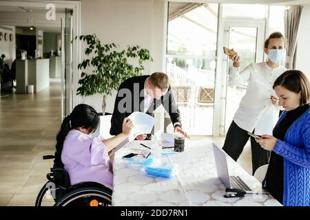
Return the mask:
M 94 137 L 72 129 L 65 137 L 61 161 L 70 175 L 71 184 L 96 181 L 112 189 L 113 174 L 103 137 Z

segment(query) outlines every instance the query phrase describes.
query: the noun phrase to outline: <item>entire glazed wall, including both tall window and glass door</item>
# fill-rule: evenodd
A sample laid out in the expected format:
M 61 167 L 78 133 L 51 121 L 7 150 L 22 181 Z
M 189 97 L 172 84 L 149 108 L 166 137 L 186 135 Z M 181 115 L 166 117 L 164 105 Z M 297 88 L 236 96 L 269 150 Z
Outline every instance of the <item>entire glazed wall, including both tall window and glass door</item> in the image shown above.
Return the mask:
M 266 36 L 276 31 L 285 34 L 283 6 L 221 4 L 220 26 L 218 6 L 169 3 L 166 72 L 189 135 L 224 135 L 247 88 L 227 83 L 231 61 L 216 46 L 234 47 L 244 69 L 251 62 L 265 61 Z M 165 125 L 167 132 L 173 130 L 167 115 Z

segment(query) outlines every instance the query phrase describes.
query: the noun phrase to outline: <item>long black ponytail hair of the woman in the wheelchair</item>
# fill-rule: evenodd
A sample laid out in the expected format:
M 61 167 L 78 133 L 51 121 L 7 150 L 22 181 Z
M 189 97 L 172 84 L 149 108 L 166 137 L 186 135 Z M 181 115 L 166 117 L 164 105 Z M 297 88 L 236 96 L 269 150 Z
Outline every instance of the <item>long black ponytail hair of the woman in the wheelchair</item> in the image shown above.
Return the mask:
M 56 152 L 54 166 L 63 167 L 61 162 L 61 151 L 63 151 L 63 142 L 69 131 L 79 126 L 88 129 L 91 132 L 97 129 L 99 125 L 99 114 L 88 104 L 78 104 L 74 107 L 72 113 L 65 117 L 61 124 L 61 129 L 56 136 Z

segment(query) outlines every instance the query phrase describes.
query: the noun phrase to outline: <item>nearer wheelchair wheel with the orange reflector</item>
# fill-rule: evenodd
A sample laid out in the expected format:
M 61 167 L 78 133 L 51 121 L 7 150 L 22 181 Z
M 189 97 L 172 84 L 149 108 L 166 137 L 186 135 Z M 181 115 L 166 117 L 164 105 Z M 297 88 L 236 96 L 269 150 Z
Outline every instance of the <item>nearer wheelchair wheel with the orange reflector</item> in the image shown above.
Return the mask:
M 111 192 L 102 188 L 79 188 L 64 195 L 54 206 L 111 206 Z

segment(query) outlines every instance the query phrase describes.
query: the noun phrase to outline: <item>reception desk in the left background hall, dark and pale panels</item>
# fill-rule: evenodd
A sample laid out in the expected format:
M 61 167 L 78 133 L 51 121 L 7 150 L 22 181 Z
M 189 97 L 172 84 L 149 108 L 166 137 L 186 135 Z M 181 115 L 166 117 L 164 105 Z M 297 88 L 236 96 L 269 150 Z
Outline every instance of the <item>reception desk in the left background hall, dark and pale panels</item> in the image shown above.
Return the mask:
M 34 86 L 34 93 L 50 86 L 50 60 L 17 60 L 16 63 L 17 94 L 25 94 L 27 85 Z

